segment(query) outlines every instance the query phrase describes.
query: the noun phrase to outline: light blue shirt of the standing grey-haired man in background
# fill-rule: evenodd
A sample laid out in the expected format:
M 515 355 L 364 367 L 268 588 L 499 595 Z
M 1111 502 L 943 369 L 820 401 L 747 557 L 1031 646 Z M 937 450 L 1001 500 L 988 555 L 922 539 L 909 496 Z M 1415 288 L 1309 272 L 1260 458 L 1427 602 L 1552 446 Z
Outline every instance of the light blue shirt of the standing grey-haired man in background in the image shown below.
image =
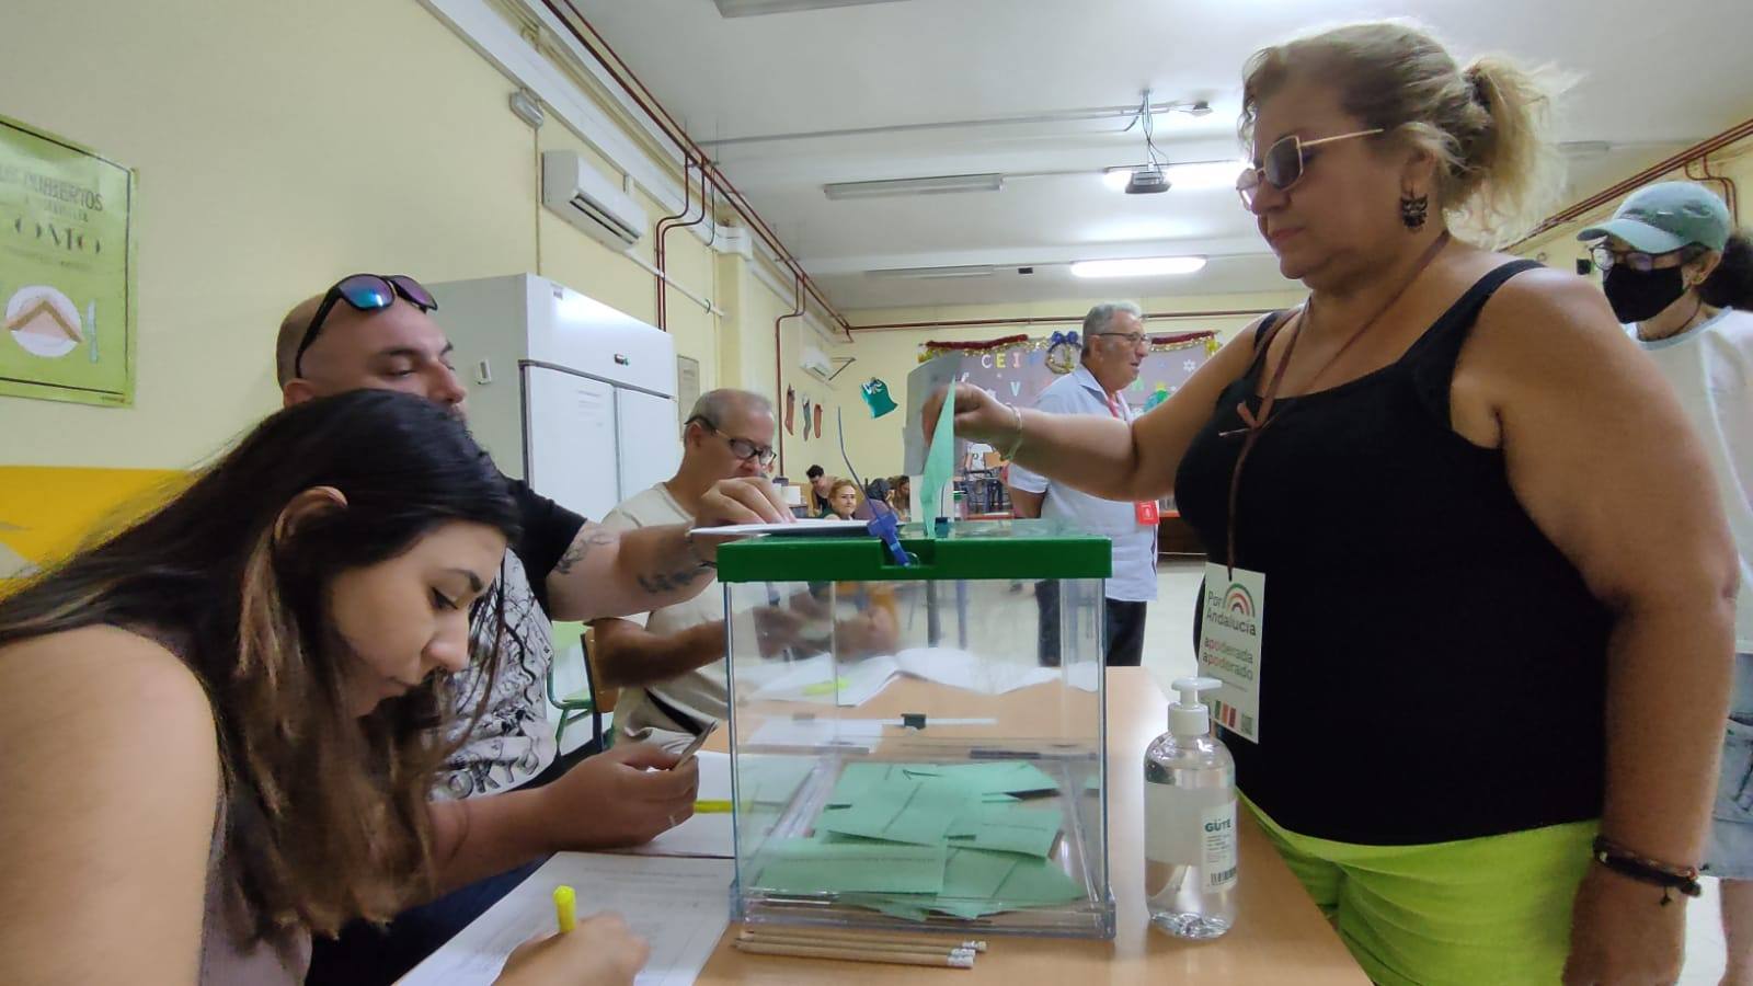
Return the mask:
M 1120 418 L 1132 419 L 1132 409 L 1118 400 Z M 1036 411 L 1050 414 L 1099 414 L 1110 418 L 1108 398 L 1096 375 L 1078 367 L 1059 377 L 1041 397 Z M 1020 465 L 1010 467 L 1010 484 L 1024 493 L 1047 493 L 1041 500 L 1041 518 L 1106 537 L 1113 542 L 1113 575 L 1108 579 L 1108 598 L 1120 602 L 1150 602 L 1157 598 L 1157 528 L 1138 523 L 1132 504 L 1117 504 L 1090 497 L 1069 486 L 1050 482 L 1038 472 Z

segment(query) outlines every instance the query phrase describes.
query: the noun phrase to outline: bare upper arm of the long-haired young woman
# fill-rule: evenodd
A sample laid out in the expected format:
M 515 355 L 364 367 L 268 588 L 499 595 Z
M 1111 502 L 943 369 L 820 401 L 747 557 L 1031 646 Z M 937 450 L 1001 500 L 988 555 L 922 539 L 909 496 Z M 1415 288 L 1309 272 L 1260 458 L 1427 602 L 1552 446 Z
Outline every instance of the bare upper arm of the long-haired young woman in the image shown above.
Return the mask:
M 212 705 L 109 626 L 0 649 L 0 982 L 198 979 Z

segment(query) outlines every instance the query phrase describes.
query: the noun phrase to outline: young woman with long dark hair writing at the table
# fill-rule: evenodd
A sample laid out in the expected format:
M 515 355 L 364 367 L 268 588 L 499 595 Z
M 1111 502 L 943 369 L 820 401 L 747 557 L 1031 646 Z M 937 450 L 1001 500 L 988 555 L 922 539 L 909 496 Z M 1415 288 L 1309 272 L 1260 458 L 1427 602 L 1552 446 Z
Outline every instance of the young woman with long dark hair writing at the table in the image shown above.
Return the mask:
M 461 421 L 354 391 L 0 600 L 0 982 L 295 984 L 312 935 L 536 853 L 556 788 L 428 802 L 515 533 Z M 500 982 L 643 960 L 603 916 Z

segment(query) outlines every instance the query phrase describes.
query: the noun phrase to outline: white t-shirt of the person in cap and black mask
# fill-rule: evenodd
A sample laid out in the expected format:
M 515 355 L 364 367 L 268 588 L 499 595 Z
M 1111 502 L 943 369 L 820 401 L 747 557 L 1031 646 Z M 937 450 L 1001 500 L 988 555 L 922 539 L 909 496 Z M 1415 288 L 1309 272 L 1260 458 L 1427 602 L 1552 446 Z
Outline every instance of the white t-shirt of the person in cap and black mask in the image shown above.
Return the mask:
M 1723 309 L 1679 335 L 1637 339 L 1679 395 L 1704 442 L 1728 530 L 1741 553 L 1735 593 L 1735 651 L 1753 653 L 1753 314 Z

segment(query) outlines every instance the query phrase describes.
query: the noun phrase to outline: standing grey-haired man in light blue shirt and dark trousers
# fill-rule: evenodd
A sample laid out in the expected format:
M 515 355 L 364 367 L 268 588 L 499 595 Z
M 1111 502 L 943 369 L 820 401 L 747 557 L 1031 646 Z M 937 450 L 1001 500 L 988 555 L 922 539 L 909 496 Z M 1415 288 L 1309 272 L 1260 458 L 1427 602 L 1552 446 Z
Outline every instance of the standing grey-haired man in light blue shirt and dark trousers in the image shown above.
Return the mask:
M 1104 414 L 1131 421 L 1132 409 L 1122 391 L 1138 379 L 1146 353 L 1145 312 L 1132 302 L 1103 302 L 1083 316 L 1078 368 L 1041 391 L 1034 407 L 1052 414 Z M 1157 598 L 1155 504 L 1103 500 L 1017 465 L 1010 467 L 1008 484 L 1018 518 L 1057 519 L 1113 542 L 1113 575 L 1103 614 L 1104 663 L 1138 665 L 1145 654 L 1145 609 Z M 1050 582 L 1041 582 L 1036 598 L 1041 602 L 1040 660 L 1057 667 L 1059 593 Z

